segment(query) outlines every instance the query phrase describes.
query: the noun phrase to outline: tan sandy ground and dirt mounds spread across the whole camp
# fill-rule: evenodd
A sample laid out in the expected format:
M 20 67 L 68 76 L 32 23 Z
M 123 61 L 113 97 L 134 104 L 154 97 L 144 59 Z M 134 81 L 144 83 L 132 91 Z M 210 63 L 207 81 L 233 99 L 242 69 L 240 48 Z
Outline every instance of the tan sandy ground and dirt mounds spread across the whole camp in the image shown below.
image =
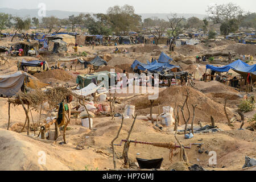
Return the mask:
M 8 41 L 1 41 L 0 45 L 8 45 Z M 233 47 L 232 47 L 233 46 Z M 131 72 L 130 64 L 135 59 L 138 59 L 142 63 L 146 63 L 147 60 L 151 60 L 152 57 L 158 58 L 161 51 L 168 53 L 175 57 L 177 64 L 180 64 L 184 70 L 195 73 L 199 72 L 203 75 L 205 72 L 205 64 L 184 64 L 183 60 L 195 61 L 196 55 L 201 55 L 205 52 L 227 52 L 232 49 L 236 53 L 241 44 L 233 45 L 230 42 L 224 42 L 223 44 L 215 43 L 212 47 L 205 45 L 198 46 L 184 46 L 176 48 L 174 53 L 168 52 L 168 47 L 160 45 L 158 47 L 142 47 L 142 46 L 118 46 L 119 49 L 127 49 L 129 53 L 115 54 L 113 53 L 115 47 L 98 46 L 92 49 L 91 47 L 79 47 L 79 52 L 86 52 L 88 56 L 82 57 L 82 59 L 92 60 L 96 55 L 108 57 L 109 68 L 116 68 L 119 72 L 126 69 L 127 72 Z M 250 50 L 253 49 L 250 47 Z M 135 51 L 135 52 L 134 52 Z M 243 50 L 246 51 L 246 50 Z M 238 52 L 238 51 L 237 51 Z M 49 66 L 55 65 L 55 61 L 60 57 L 70 58 L 73 52 L 72 47 L 69 47 L 68 55 L 48 55 L 43 59 L 47 60 Z M 238 54 L 238 53 L 237 53 Z M 108 55 L 108 56 L 106 56 Z M 181 59 L 181 57 L 183 57 Z M 1 65 L 0 75 L 6 75 L 16 72 L 16 61 L 21 59 L 33 60 L 35 57 L 11 57 L 9 63 Z M 226 59 L 224 57 L 224 59 Z M 43 82 L 51 82 L 51 86 L 56 83 L 72 87 L 76 85 L 75 78 L 77 74 L 86 74 L 88 69 L 82 69 L 81 65 L 77 66 L 75 71 L 75 63 L 72 64 L 73 71 L 60 71 L 60 73 L 43 75 L 39 73 L 38 78 Z M 109 69 L 107 68 L 107 69 Z M 199 69 L 196 69 L 199 68 Z M 101 69 L 104 69 L 101 68 Z M 106 68 L 105 68 L 106 69 Z M 61 73 L 63 73 L 61 75 Z M 65 74 L 64 74 L 65 73 Z M 67 74 L 70 76 L 67 76 Z M 66 75 L 66 76 L 65 76 Z M 67 78 L 67 79 L 66 79 Z M 142 89 L 142 87 L 139 87 Z M 192 145 L 191 149 L 187 149 L 187 155 L 190 164 L 199 164 L 208 170 L 241 170 L 245 163 L 245 156 L 250 158 L 256 158 L 256 135 L 255 131 L 250 130 L 238 130 L 241 123 L 237 114 L 237 105 L 242 100 L 242 97 L 246 92 L 238 92 L 238 90 L 231 88 L 228 85 L 221 84 L 216 81 L 201 82 L 196 81 L 195 88 L 189 88 L 191 90 L 191 98 L 189 99 L 189 107 L 191 104 L 197 104 L 199 107 L 196 110 L 196 120 L 201 121 L 203 125 L 209 125 L 210 116 L 212 115 L 216 121 L 216 125 L 222 129 L 218 133 L 207 134 L 195 134 L 191 139 L 184 139 L 183 135 L 177 135 L 184 146 L 188 146 L 190 143 L 203 143 L 201 148 L 197 145 Z M 126 104 L 134 104 L 136 106 L 135 113 L 139 115 L 147 115 L 150 111 L 150 105 L 146 99 L 147 92 L 145 94 L 132 94 L 121 93 L 117 94 L 117 100 L 122 101 L 122 104 L 115 105 L 115 111 L 119 112 Z M 170 105 L 175 107 L 175 103 L 183 104 L 185 88 L 159 88 L 159 106 L 162 111 L 162 106 Z M 255 93 L 251 93 L 255 95 Z M 224 98 L 230 96 L 228 101 L 228 114 L 230 118 L 234 119 L 232 125 L 228 126 L 224 115 Z M 38 108 L 39 110 L 39 108 Z M 192 110 L 192 107 L 191 107 Z M 41 122 L 47 117 L 46 111 L 43 111 Z M 158 114 L 158 105 L 155 103 L 153 107 L 153 113 Z M 185 115 L 188 113 L 185 111 Z M 245 114 L 246 121 L 253 117 L 256 111 L 253 110 Z M 39 120 L 38 111 L 32 111 L 32 117 L 35 122 Z M 181 116 L 180 116 L 181 117 Z M 105 115 L 97 115 L 93 118 L 93 130 L 86 129 L 81 126 L 81 119 L 71 119 L 69 130 L 67 131 L 68 144 L 60 144 L 61 137 L 57 141 L 53 140 L 39 140 L 35 137 L 34 131 L 30 131 L 31 136 L 27 137 L 26 132 L 18 133 L 17 129 L 24 125 L 25 114 L 22 106 L 11 105 L 11 130 L 7 131 L 8 122 L 8 104 L 7 98 L 0 98 L 0 170 L 105 170 L 113 168 L 112 148 L 111 141 L 117 134 L 119 126 L 121 125 L 121 119 L 116 118 L 114 121 L 110 117 Z M 125 119 L 123 122 L 123 128 L 119 138 L 115 141 L 115 144 L 119 144 L 122 139 L 126 139 L 127 132 L 130 129 L 133 119 Z M 190 122 L 189 122 L 190 123 Z M 184 122 L 181 119 L 179 129 L 183 129 Z M 249 122 L 245 122 L 243 128 L 250 126 Z M 51 133 L 54 131 L 54 126 L 51 126 Z M 36 136 L 39 131 L 36 131 Z M 62 134 L 62 131 L 61 131 Z M 152 125 L 149 121 L 142 121 L 137 119 L 134 125 L 133 132 L 130 139 L 137 139 L 139 141 L 147 142 L 176 142 L 174 138 L 173 127 L 164 128 L 163 131 L 156 129 L 155 125 Z M 77 150 L 78 144 L 84 145 L 84 150 Z M 199 149 L 203 150 L 203 154 L 199 154 Z M 123 150 L 122 146 L 115 146 L 117 154 L 117 167 L 121 168 L 123 159 L 121 159 Z M 46 154 L 46 164 L 39 164 L 41 154 L 40 151 L 44 151 Z M 209 165 L 210 156 L 205 151 L 215 151 L 217 154 L 217 165 Z M 162 169 L 168 169 L 170 166 L 179 166 L 179 148 L 174 152 L 173 162 L 169 160 L 170 151 L 167 148 L 158 148 L 145 144 L 130 145 L 129 158 L 131 162 L 135 163 L 136 158 L 143 159 L 158 159 L 164 158 Z M 181 167 L 185 169 L 185 166 L 181 164 Z M 177 167 L 177 169 L 181 169 Z M 254 169 L 254 168 L 252 168 Z M 254 169 L 255 170 L 255 169 Z

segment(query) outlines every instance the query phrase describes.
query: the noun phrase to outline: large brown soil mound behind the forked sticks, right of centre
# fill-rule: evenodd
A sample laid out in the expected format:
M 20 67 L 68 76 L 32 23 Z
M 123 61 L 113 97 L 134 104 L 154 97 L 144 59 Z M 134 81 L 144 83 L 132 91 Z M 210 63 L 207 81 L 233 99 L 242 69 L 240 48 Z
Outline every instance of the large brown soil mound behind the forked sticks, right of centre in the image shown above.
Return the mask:
M 162 92 L 159 92 L 158 99 L 154 101 L 153 113 L 158 113 L 158 104 L 160 105 L 160 109 L 162 109 L 162 106 L 171 106 L 173 108 L 175 105 L 182 106 L 186 98 L 185 95 L 187 95 L 187 90 L 189 92 L 188 105 L 191 111 L 191 117 L 193 112 L 192 105 L 197 105 L 195 123 L 197 123 L 197 121 L 210 122 L 210 116 L 213 116 L 216 122 L 226 122 L 224 105 L 214 102 L 204 93 L 201 93 L 200 91 L 188 86 L 172 86 L 166 90 L 163 90 Z M 135 108 L 140 114 L 150 113 L 150 101 L 148 100 L 148 97 L 132 100 L 131 104 L 135 105 Z M 188 110 L 186 107 L 184 109 L 184 114 L 185 117 L 188 118 Z M 229 117 L 234 116 L 234 114 L 229 110 L 228 114 Z M 180 122 L 183 122 L 181 114 Z

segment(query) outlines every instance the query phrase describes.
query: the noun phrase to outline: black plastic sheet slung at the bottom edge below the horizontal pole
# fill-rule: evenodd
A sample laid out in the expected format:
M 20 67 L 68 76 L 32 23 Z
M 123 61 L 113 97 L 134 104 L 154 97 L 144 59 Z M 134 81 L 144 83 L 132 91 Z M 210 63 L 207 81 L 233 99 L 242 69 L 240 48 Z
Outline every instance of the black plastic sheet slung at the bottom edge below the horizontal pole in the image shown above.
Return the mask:
M 139 168 L 141 169 L 160 169 L 163 162 L 163 158 L 151 159 L 151 160 L 140 159 L 140 158 L 136 158 L 136 159 L 139 164 Z

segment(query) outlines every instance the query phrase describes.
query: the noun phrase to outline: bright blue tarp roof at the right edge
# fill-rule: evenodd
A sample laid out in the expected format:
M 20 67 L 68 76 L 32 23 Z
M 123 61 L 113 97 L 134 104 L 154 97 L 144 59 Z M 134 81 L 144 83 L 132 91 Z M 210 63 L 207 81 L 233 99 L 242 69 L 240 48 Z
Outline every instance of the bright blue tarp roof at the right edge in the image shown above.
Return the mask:
M 233 69 L 234 71 L 239 72 L 240 74 L 256 72 L 256 64 L 249 65 L 239 59 L 224 67 L 214 67 L 213 65 L 207 65 L 206 68 L 216 72 L 228 72 L 230 69 Z

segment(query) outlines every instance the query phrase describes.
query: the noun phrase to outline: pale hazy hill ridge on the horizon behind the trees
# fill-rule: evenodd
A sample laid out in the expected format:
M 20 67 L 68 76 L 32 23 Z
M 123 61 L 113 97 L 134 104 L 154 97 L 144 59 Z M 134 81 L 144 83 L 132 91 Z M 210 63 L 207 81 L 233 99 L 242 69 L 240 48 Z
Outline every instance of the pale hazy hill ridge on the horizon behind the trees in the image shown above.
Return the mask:
M 12 15 L 17 15 L 20 17 L 37 17 L 37 18 L 42 18 L 38 16 L 38 9 L 20 9 L 20 10 L 15 10 L 15 9 L 10 9 L 10 8 L 0 8 L 0 13 L 7 13 L 7 14 L 12 14 Z M 73 12 L 73 11 L 61 11 L 61 10 L 51 10 L 51 11 L 46 11 L 46 16 L 56 16 L 57 18 L 68 18 L 70 15 L 79 15 L 80 13 L 88 14 L 86 12 Z M 93 14 L 93 13 L 90 13 Z M 142 16 L 142 20 L 146 18 L 152 18 L 152 17 L 158 17 L 160 19 L 166 19 L 169 14 L 167 13 L 144 13 L 144 14 L 139 14 Z M 184 18 L 190 18 L 192 16 L 196 16 L 199 19 L 204 19 L 207 15 L 203 14 L 177 14 L 177 16 L 181 17 L 183 16 Z

